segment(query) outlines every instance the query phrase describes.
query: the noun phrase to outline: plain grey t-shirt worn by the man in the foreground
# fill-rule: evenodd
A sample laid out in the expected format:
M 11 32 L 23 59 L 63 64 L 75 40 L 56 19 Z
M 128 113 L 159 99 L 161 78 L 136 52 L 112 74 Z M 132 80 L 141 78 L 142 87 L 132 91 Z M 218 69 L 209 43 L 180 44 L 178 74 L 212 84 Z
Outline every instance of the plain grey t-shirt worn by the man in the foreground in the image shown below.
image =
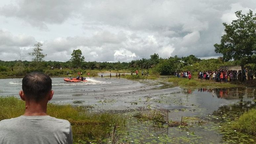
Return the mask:
M 71 125 L 50 116 L 20 116 L 0 121 L 1 144 L 71 144 Z

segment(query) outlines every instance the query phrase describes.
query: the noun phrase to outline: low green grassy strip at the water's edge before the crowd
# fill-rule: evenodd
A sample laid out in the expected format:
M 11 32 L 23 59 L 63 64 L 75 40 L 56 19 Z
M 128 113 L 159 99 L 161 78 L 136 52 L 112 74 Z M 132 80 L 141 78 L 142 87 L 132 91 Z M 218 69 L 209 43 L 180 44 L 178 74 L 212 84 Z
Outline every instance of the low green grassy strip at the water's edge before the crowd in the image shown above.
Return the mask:
M 184 79 L 184 78 L 169 78 L 168 82 L 172 82 L 178 86 L 185 88 L 231 88 L 231 87 L 239 87 L 239 85 L 231 84 L 231 83 L 217 83 L 211 80 L 198 80 L 198 79 Z

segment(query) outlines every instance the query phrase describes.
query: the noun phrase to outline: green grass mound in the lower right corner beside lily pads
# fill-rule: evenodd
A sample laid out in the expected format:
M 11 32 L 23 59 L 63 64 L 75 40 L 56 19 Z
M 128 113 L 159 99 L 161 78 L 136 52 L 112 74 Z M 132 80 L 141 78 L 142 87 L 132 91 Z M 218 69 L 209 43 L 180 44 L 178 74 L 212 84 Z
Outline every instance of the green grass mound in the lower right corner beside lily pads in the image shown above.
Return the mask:
M 237 120 L 231 123 L 230 128 L 256 136 L 256 109 L 251 109 L 242 114 Z

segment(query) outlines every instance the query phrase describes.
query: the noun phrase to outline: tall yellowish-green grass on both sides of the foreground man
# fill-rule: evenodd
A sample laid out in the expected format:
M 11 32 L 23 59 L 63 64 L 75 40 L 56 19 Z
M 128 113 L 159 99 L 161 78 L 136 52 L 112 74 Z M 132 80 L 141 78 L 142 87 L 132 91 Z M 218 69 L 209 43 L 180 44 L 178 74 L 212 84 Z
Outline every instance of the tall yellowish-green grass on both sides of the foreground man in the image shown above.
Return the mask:
M 25 104 L 15 97 L 0 97 L 0 121 L 19 117 L 24 113 Z M 122 116 L 109 113 L 93 113 L 84 107 L 71 105 L 48 104 L 48 115 L 66 119 L 71 123 L 74 143 L 106 142 L 114 124 L 122 126 Z

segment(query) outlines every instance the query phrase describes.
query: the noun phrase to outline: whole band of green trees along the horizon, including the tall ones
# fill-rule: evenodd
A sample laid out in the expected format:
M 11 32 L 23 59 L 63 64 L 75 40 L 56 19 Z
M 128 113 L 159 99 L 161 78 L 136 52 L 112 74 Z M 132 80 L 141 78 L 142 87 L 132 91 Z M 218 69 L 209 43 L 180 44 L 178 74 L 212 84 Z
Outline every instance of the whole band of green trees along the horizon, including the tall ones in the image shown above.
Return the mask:
M 99 69 L 99 70 L 123 70 L 128 69 L 135 71 L 136 69 L 151 69 L 152 72 L 161 75 L 169 75 L 175 71 L 204 71 L 216 70 L 221 65 L 240 65 L 249 66 L 256 70 L 256 14 L 251 10 L 247 14 L 241 11 L 235 12 L 237 19 L 231 24 L 223 23 L 225 33 L 221 37 L 220 44 L 215 44 L 215 52 L 223 54 L 222 57 L 203 59 L 189 55 L 186 57 L 161 58 L 158 54 L 150 55 L 149 59 L 142 58 L 132 60 L 130 62 L 97 62 L 85 61 L 81 50 L 73 50 L 71 59 L 66 62 L 44 61 L 47 54 L 43 54 L 42 43 L 37 42 L 34 45 L 33 52 L 28 53 L 33 56 L 32 61 L 2 61 L 0 60 L 0 71 L 7 72 L 10 69 L 16 71 L 20 75 L 26 72 L 54 68 L 68 69 Z

